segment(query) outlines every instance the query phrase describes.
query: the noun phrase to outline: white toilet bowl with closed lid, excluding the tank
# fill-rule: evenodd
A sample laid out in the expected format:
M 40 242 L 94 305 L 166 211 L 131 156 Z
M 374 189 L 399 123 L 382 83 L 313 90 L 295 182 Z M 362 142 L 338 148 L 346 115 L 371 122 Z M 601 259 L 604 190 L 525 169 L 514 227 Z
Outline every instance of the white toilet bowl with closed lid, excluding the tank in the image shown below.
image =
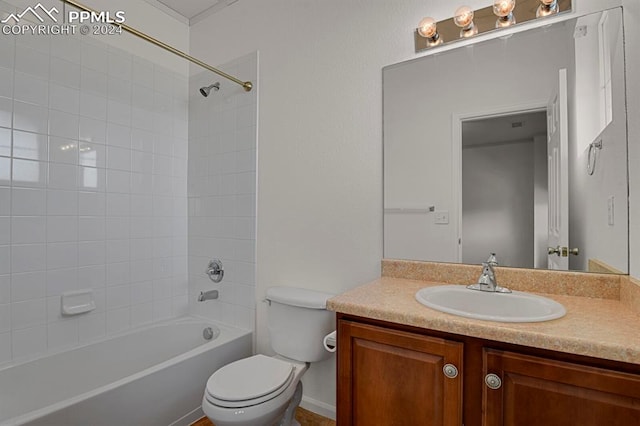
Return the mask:
M 233 362 L 207 381 L 202 410 L 216 426 L 279 425 L 296 390 L 302 394 L 300 378 L 306 370 L 305 363 L 264 355 Z M 292 419 L 284 424 L 295 425 Z

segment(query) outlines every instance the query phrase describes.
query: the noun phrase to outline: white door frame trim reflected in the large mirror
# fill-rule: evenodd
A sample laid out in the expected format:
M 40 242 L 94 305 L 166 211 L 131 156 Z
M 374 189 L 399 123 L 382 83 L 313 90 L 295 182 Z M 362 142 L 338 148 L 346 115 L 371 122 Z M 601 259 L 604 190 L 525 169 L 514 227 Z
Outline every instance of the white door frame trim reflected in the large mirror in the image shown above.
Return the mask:
M 505 115 L 525 114 L 528 112 L 547 111 L 548 99 L 522 104 L 505 105 L 466 113 L 451 114 L 451 182 L 458 191 L 454 198 L 456 210 L 456 235 L 458 236 L 458 263 L 462 262 L 462 122 L 471 119 L 494 118 Z

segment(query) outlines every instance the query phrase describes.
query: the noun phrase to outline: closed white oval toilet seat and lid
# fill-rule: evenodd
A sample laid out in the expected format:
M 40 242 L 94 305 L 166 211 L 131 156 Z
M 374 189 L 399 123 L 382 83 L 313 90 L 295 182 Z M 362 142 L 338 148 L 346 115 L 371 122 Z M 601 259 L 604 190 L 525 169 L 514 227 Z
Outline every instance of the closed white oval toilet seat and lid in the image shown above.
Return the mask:
M 255 355 L 228 364 L 207 381 L 205 396 L 214 405 L 244 408 L 261 404 L 284 392 L 293 381 L 295 366 Z

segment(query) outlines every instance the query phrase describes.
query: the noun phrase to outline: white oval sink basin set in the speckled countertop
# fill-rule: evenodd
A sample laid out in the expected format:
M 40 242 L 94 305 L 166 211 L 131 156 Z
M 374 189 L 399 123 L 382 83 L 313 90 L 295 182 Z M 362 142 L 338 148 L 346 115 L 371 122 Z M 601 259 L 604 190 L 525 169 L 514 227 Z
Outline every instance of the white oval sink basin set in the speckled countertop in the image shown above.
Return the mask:
M 487 321 L 541 322 L 566 314 L 564 306 L 546 297 L 520 291 L 489 293 L 462 285 L 426 287 L 418 290 L 416 300 L 438 311 Z

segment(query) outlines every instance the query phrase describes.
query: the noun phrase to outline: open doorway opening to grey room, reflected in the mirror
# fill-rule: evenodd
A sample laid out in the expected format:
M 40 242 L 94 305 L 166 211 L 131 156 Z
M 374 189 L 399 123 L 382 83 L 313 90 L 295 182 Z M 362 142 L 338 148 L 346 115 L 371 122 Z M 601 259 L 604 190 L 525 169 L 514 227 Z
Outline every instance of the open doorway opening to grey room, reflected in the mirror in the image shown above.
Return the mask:
M 462 123 L 462 262 L 546 268 L 546 110 L 476 117 Z

